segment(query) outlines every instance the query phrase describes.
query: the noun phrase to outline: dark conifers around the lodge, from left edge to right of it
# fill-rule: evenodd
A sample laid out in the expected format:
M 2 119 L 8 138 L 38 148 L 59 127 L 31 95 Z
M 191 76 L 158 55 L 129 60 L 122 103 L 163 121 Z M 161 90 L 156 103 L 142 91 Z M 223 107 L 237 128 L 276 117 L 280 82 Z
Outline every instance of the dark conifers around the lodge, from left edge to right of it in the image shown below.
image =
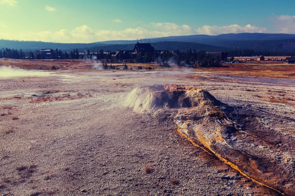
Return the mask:
M 46 59 L 46 56 L 42 52 L 37 52 L 34 54 L 32 51 L 23 52 L 22 49 L 0 49 L 0 58 L 12 58 L 12 59 Z M 74 49 L 70 52 L 62 52 L 59 49 L 55 49 L 50 54 L 50 59 L 95 59 L 95 60 L 105 60 L 106 62 L 122 62 L 123 56 L 119 53 L 117 59 L 112 58 L 112 53 L 104 53 L 103 50 L 98 52 L 84 52 L 80 55 L 78 49 Z M 126 60 L 126 59 L 125 59 Z M 169 62 L 173 60 L 177 65 L 192 65 L 198 63 L 199 66 L 218 66 L 220 63 L 217 59 L 206 58 L 205 50 L 197 52 L 195 49 L 188 49 L 186 52 L 175 51 L 163 51 L 162 54 L 158 55 L 156 52 L 146 52 L 144 56 L 137 54 L 135 59 L 127 59 L 129 62 L 138 63 L 150 63 L 157 62 L 163 66 L 169 66 Z

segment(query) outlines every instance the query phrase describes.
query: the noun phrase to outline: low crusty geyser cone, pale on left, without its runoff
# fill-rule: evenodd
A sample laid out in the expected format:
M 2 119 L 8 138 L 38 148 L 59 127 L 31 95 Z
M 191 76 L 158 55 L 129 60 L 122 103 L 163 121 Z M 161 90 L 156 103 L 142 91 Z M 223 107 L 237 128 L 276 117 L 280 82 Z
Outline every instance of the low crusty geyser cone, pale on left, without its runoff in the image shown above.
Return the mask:
M 165 108 L 193 108 L 220 104 L 220 101 L 203 89 L 166 84 L 136 88 L 125 101 L 125 106 L 142 113 Z

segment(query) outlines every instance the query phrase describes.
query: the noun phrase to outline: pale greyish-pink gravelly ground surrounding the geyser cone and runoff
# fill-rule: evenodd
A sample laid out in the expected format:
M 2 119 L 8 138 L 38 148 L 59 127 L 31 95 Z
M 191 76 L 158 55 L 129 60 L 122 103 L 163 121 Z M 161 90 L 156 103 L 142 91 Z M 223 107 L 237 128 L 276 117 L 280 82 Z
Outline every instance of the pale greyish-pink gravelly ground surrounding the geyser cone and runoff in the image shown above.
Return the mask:
M 202 74 L 207 73 L 62 72 L 0 78 L 0 194 L 254 195 L 239 175 L 218 171 L 181 145 L 173 113 L 139 114 L 122 106 L 137 86 L 171 83 L 204 88 L 231 105 L 294 118 L 294 106 L 265 98 L 281 91 L 293 96 L 295 85 L 280 86 L 278 80 L 272 84 L 265 78 L 267 85 L 259 84 L 251 77 L 239 82 L 239 76 L 235 81 L 220 75 L 208 79 Z M 44 92 L 61 99 L 32 97 Z M 75 97 L 77 92 L 82 96 Z

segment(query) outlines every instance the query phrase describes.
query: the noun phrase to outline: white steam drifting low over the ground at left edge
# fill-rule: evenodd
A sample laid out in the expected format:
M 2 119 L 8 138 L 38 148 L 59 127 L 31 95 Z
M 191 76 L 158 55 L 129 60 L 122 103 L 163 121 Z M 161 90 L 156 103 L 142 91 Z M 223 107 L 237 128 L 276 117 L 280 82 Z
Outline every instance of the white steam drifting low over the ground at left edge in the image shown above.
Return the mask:
M 0 77 L 48 76 L 50 72 L 31 71 L 8 66 L 0 67 Z

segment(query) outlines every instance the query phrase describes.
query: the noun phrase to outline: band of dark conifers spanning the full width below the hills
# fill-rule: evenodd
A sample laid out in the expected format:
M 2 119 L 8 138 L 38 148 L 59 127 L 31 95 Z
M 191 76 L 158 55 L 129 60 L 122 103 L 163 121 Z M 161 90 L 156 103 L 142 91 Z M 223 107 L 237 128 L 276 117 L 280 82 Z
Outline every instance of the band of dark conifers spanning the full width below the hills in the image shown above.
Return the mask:
M 228 51 L 229 57 L 234 56 L 292 56 L 294 52 L 290 51 L 258 51 L 254 49 L 236 49 Z M 22 49 L 0 49 L 0 58 L 12 58 L 12 59 L 46 59 L 46 56 L 42 52 L 33 53 L 32 51 L 23 52 Z M 206 57 L 206 51 L 196 49 L 187 49 L 186 51 L 162 51 L 161 54 L 153 52 L 146 52 L 144 55 L 137 54 L 129 59 L 125 59 L 124 56 L 119 53 L 117 58 L 112 58 L 112 52 L 104 52 L 100 49 L 97 52 L 90 52 L 87 50 L 82 54 L 78 49 L 74 49 L 70 52 L 63 52 L 60 49 L 55 49 L 50 54 L 50 59 L 92 59 L 102 60 L 104 62 L 138 62 L 138 63 L 150 63 L 156 62 L 168 66 L 171 61 L 177 65 L 199 65 L 201 67 L 218 66 L 219 60 L 226 61 L 227 59 L 214 59 L 212 57 Z

